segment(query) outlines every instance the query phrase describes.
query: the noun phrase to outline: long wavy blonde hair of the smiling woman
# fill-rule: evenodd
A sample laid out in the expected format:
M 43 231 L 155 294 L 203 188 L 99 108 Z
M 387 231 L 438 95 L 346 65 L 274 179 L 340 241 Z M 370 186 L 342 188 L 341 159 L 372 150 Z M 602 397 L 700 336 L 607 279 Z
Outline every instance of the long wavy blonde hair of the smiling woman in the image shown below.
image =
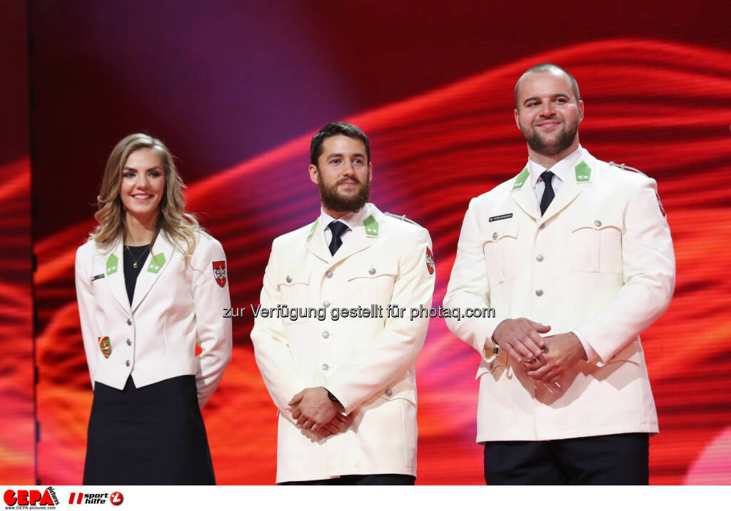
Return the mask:
M 195 250 L 195 231 L 200 229 L 200 225 L 194 215 L 185 212 L 185 196 L 183 196 L 185 184 L 175 169 L 170 150 L 161 140 L 144 133 L 124 137 L 109 155 L 102 179 L 102 190 L 96 198 L 99 210 L 94 214 L 94 218 L 99 225 L 91 233 L 90 238 L 94 239 L 102 249 L 109 249 L 119 239 L 124 239 L 125 210 L 119 196 L 122 171 L 129 155 L 144 148 L 154 150 L 162 159 L 164 166 L 165 191 L 160 199 L 157 231 L 162 231 L 170 243 L 178 247 L 187 259 Z

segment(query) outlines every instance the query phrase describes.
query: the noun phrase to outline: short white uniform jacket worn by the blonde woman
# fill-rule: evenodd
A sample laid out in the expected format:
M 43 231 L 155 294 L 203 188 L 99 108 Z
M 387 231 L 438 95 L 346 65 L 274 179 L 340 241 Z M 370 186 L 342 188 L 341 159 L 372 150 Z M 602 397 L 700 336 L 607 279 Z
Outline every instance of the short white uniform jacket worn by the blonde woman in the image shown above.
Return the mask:
M 76 295 L 91 385 L 122 389 L 132 374 L 135 386 L 143 387 L 195 374 L 202 408 L 231 360 L 231 320 L 223 317 L 231 306 L 223 247 L 200 231 L 186 267 L 180 250 L 161 232 L 137 277 L 132 306 L 122 250 L 120 240 L 108 251 L 94 241 L 76 251 Z M 196 347 L 202 350 L 198 356 Z

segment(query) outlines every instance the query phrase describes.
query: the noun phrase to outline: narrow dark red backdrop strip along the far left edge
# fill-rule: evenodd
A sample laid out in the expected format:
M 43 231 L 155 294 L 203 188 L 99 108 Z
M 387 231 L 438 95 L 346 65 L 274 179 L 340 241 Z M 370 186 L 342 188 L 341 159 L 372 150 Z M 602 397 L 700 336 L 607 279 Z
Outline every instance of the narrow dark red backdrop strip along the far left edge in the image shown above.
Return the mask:
M 25 1 L 0 3 L 0 483 L 35 481 L 31 161 Z

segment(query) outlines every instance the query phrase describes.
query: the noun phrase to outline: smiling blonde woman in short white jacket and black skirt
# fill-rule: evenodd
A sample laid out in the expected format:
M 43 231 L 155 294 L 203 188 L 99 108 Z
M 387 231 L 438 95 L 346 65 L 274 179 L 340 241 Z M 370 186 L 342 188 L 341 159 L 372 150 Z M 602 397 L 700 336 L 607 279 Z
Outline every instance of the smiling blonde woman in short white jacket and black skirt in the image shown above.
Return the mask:
M 183 186 L 160 140 L 125 137 L 76 252 L 94 388 L 84 484 L 216 482 L 200 409 L 231 358 L 226 256 L 186 214 Z

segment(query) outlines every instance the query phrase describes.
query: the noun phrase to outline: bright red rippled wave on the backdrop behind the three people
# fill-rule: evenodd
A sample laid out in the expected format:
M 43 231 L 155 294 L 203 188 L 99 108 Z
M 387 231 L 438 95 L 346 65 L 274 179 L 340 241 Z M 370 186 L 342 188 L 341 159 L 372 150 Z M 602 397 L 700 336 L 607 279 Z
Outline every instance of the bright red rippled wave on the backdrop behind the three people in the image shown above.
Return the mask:
M 731 356 L 725 348 L 731 259 L 724 248 L 731 236 L 730 52 L 650 39 L 593 40 L 533 51 L 499 66 L 486 63 L 471 77 L 349 115 L 346 120 L 371 137 L 372 200 L 431 232 L 434 306 L 441 304 L 469 199 L 525 164 L 525 144 L 512 120 L 512 88 L 524 69 L 541 61 L 575 74 L 586 101 L 583 145 L 600 159 L 654 177 L 673 231 L 675 298 L 642 336 L 661 429 L 651 439 L 651 483 L 730 483 Z M 257 304 L 271 240 L 318 215 L 317 188 L 306 166 L 309 138 L 320 124 L 215 169 L 187 192 L 189 209 L 203 213 L 227 252 L 235 307 Z M 93 226 L 87 215 L 37 237 L 35 245 L 42 483 L 81 480 L 91 387 L 73 262 Z M 274 481 L 276 410 L 254 364 L 251 326 L 250 311 L 234 320 L 233 362 L 204 410 L 223 484 Z M 482 450 L 474 443 L 478 362 L 443 320 L 431 320 L 417 361 L 417 484 L 482 483 Z M 27 391 L 21 377 L 15 383 Z

